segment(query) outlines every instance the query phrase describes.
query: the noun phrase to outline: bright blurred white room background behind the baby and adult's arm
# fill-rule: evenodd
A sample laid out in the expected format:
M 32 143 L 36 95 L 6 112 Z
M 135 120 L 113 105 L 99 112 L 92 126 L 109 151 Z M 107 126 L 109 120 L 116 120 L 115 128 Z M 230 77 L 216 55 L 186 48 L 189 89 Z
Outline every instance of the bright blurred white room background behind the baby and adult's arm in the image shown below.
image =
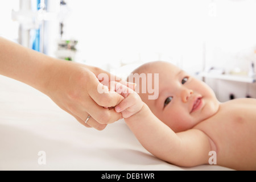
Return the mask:
M 221 102 L 256 98 L 256 0 L 0 0 L 0 23 L 0 36 L 64 61 L 169 61 Z

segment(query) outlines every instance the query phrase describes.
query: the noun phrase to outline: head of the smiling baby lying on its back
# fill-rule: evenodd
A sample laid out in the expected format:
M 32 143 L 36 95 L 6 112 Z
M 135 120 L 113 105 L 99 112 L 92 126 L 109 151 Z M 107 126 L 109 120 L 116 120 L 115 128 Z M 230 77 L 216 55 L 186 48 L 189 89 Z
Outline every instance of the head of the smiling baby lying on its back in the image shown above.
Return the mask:
M 142 79 L 135 79 L 135 73 L 143 75 L 141 78 L 146 78 L 144 83 L 147 84 L 143 84 Z M 135 91 L 142 101 L 175 132 L 191 129 L 214 115 L 219 107 L 219 102 L 208 85 L 171 63 L 154 61 L 143 64 L 130 74 L 128 81 L 136 82 L 138 88 Z M 148 96 L 152 96 L 152 90 L 158 93 L 158 97 L 148 99 Z

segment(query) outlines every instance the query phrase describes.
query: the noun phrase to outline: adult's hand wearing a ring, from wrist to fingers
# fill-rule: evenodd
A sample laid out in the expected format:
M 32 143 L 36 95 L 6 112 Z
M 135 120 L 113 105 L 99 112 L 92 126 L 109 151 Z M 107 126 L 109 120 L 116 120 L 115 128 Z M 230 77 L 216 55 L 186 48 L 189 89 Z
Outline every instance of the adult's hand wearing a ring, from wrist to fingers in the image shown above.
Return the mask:
M 98 92 L 99 86 L 103 85 L 97 76 L 105 73 L 110 81 L 110 73 L 100 68 L 62 60 L 56 61 L 51 68 L 47 72 L 50 77 L 43 92 L 82 125 L 103 130 L 108 123 L 122 118 L 122 114 L 117 113 L 113 107 L 123 100 L 123 96 L 116 92 Z M 119 81 L 130 88 L 134 86 L 126 81 Z M 85 123 L 88 115 L 91 117 Z

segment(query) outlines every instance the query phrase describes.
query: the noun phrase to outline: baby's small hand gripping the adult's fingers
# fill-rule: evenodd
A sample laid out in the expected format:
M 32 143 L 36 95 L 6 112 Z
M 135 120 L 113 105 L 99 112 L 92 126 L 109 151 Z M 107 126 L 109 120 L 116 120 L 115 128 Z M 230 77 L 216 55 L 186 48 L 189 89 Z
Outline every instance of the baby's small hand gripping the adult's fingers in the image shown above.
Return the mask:
M 122 113 L 123 118 L 129 118 L 134 114 L 137 114 L 143 106 L 141 97 L 133 89 L 128 88 L 119 82 L 110 82 L 110 89 L 121 94 L 124 99 L 115 106 L 115 111 Z

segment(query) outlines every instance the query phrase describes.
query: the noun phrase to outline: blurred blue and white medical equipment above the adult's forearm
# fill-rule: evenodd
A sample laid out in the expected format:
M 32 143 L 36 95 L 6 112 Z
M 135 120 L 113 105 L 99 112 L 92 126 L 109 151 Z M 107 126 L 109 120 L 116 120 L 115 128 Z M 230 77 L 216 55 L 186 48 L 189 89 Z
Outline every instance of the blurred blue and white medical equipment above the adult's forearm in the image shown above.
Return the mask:
M 49 56 L 73 60 L 77 40 L 63 40 L 68 7 L 64 0 L 19 0 L 12 19 L 19 22 L 18 43 Z

